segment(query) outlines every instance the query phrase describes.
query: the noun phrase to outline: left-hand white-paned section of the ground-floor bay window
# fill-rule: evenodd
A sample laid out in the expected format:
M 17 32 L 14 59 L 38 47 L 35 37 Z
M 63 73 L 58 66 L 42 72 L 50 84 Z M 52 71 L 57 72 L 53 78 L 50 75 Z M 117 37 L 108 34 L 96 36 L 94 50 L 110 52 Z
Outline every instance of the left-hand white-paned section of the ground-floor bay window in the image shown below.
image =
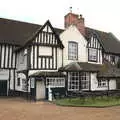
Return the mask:
M 79 72 L 68 73 L 68 91 L 79 91 Z

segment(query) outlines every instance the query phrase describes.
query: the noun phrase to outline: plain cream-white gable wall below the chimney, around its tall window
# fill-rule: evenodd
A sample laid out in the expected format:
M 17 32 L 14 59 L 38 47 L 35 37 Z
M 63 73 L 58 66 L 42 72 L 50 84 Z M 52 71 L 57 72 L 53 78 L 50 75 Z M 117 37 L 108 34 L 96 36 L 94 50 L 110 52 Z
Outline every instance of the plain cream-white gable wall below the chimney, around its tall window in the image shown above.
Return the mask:
M 63 49 L 63 65 L 67 65 L 70 62 L 87 62 L 88 53 L 87 53 L 87 41 L 83 35 L 78 31 L 78 29 L 71 25 L 67 28 L 61 35 L 60 38 L 64 45 Z M 78 60 L 68 60 L 68 42 L 74 41 L 78 43 Z

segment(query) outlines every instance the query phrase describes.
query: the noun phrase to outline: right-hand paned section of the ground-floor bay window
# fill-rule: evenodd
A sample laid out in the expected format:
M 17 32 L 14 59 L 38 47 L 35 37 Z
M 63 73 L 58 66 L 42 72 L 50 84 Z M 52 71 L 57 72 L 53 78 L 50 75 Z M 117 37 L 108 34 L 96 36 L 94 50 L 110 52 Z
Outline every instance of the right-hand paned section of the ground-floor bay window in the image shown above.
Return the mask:
M 90 73 L 81 72 L 80 73 L 80 80 L 81 80 L 81 89 L 82 90 L 89 90 Z

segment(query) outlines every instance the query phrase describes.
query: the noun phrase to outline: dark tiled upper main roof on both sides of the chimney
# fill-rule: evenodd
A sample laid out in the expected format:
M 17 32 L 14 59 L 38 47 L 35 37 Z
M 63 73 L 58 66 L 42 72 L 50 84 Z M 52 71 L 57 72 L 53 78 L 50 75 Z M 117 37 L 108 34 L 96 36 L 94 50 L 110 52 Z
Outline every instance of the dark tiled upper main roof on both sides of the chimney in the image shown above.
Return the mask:
M 0 43 L 24 46 L 41 25 L 0 18 Z M 54 28 L 59 35 L 64 30 Z M 86 27 L 86 38 L 96 33 L 105 52 L 120 54 L 120 41 L 112 34 Z

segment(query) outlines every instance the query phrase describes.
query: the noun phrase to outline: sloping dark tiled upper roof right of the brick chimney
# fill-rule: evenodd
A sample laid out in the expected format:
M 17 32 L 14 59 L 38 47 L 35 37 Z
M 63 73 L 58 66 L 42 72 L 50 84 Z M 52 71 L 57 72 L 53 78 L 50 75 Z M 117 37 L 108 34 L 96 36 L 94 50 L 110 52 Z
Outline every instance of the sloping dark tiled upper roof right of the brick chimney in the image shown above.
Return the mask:
M 120 54 L 120 41 L 112 33 L 86 28 L 87 39 L 90 38 L 92 33 L 97 35 L 105 52 Z

